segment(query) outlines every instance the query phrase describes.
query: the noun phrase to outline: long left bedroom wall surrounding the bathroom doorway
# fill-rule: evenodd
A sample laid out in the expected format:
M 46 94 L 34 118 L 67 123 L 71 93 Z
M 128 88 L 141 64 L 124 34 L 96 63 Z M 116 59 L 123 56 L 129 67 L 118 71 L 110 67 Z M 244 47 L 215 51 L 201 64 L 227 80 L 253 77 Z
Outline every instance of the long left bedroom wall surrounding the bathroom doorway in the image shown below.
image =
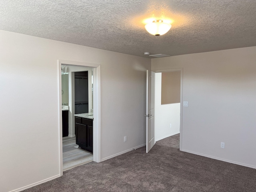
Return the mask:
M 146 142 L 150 59 L 0 30 L 1 192 L 60 175 L 58 59 L 101 65 L 101 158 Z

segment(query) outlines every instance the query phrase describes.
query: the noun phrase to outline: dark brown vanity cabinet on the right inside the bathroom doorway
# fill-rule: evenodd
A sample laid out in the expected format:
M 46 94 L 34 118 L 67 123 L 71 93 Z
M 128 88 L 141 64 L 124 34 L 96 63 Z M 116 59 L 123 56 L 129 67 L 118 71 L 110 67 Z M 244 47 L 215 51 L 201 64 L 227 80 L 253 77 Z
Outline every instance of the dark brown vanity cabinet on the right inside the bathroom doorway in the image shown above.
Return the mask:
M 75 117 L 75 123 L 76 144 L 80 148 L 92 152 L 93 120 Z

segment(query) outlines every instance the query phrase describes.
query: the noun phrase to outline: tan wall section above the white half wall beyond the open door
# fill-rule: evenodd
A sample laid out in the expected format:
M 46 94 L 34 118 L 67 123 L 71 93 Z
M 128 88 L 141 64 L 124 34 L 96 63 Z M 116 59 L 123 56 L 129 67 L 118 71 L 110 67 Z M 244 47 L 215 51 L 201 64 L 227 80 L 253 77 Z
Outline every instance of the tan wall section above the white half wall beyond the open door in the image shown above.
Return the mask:
M 180 71 L 162 73 L 161 104 L 180 103 Z

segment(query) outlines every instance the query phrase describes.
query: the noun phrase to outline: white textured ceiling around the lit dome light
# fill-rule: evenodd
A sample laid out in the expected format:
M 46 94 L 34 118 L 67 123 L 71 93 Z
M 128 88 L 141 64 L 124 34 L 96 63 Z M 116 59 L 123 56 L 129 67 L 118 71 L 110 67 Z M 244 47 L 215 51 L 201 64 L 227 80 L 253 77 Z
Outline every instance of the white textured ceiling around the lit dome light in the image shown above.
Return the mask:
M 171 30 L 156 37 L 145 19 Z M 0 29 L 131 55 L 256 46 L 256 0 L 2 0 Z

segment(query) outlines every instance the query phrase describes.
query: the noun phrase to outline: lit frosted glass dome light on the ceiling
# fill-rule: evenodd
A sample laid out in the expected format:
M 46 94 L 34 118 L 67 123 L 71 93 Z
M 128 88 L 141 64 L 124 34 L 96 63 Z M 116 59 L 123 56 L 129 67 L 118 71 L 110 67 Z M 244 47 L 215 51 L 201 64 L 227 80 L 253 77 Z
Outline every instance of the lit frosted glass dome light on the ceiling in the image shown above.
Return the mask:
M 157 37 L 166 34 L 171 27 L 171 24 L 164 23 L 163 20 L 154 20 L 152 23 L 145 25 L 146 30 Z

